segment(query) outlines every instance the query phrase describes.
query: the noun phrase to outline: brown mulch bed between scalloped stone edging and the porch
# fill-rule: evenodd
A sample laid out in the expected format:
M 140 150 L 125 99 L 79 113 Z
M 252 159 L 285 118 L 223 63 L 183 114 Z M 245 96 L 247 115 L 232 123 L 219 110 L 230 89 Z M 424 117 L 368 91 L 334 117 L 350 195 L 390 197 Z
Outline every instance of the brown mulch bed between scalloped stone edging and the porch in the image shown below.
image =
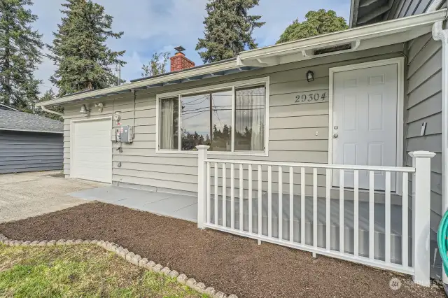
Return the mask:
M 92 203 L 0 224 L 15 240 L 101 239 L 238 297 L 444 297 L 411 278 L 211 229 Z M 393 277 L 402 281 L 391 290 Z

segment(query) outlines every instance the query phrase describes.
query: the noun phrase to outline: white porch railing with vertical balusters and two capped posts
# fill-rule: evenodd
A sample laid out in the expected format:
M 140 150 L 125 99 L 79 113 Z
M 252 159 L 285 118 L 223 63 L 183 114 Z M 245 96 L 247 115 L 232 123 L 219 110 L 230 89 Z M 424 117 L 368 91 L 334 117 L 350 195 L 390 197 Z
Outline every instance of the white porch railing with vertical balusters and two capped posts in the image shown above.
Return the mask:
M 429 285 L 433 152 L 410 152 L 413 166 L 395 167 L 209 159 L 208 148 L 197 146 L 197 225 L 201 229 L 398 271 Z M 336 187 L 333 171 L 339 171 Z M 344 187 L 344 172 L 353 176 L 354 187 L 349 190 Z M 368 190 L 360 190 L 360 173 L 368 177 Z M 413 176 L 410 215 L 409 173 Z M 393 175 L 402 181 L 401 191 L 391 191 Z M 325 186 L 318 183 L 323 177 Z M 378 177 L 385 179 L 384 191 L 375 190 Z

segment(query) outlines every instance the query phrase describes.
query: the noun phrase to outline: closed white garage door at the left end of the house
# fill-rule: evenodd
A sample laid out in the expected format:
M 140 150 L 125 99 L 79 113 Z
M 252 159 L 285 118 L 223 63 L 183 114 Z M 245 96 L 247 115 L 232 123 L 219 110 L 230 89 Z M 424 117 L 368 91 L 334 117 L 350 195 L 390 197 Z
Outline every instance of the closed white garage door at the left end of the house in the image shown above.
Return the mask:
M 74 122 L 71 177 L 112 182 L 111 120 Z

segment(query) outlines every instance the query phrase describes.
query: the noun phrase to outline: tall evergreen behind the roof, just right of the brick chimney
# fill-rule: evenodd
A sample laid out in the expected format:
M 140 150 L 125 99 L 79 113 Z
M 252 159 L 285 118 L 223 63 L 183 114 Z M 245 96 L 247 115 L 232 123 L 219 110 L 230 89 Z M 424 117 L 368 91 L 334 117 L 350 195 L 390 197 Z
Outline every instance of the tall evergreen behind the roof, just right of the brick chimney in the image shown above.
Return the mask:
M 216 62 L 237 57 L 239 52 L 257 48 L 252 31 L 265 22 L 258 22 L 261 15 L 248 15 L 248 10 L 260 0 L 209 0 L 205 17 L 204 38 L 199 38 L 196 50 L 202 61 Z

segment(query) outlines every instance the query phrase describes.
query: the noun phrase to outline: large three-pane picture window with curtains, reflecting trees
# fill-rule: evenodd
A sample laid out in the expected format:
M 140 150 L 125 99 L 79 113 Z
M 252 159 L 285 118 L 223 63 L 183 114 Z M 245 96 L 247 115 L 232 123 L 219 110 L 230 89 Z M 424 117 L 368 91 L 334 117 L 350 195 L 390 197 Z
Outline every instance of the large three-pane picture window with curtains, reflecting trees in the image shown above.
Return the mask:
M 158 98 L 158 149 L 266 152 L 266 83 Z

